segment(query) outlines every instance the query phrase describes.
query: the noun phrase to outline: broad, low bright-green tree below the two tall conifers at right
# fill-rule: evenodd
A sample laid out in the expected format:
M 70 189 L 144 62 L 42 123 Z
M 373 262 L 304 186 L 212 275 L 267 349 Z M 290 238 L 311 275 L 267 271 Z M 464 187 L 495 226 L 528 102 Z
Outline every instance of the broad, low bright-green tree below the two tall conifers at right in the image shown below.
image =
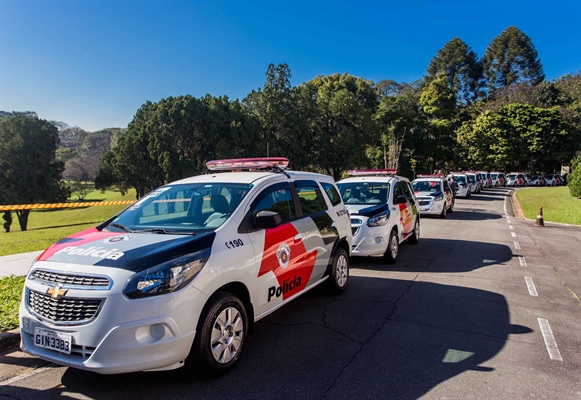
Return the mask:
M 458 130 L 468 162 L 478 168 L 553 171 L 575 150 L 577 134 L 557 107 L 509 104 Z

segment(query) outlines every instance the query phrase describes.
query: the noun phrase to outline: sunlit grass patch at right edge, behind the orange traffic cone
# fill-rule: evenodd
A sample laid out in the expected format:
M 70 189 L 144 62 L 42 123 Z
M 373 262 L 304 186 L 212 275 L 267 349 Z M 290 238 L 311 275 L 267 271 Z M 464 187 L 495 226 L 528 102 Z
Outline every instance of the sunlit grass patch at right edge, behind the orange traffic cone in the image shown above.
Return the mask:
M 581 199 L 571 196 L 567 186 L 519 190 L 516 198 L 529 219 L 536 219 L 543 207 L 545 221 L 581 225 Z

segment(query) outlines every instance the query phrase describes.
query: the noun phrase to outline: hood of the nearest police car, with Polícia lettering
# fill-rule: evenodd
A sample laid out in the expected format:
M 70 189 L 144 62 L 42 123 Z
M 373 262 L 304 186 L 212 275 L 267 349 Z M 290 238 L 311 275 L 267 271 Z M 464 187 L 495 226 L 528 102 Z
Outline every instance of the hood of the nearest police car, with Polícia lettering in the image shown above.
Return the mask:
M 97 228 L 62 239 L 36 261 L 113 267 L 139 272 L 212 247 L 214 232 L 190 235 L 104 232 Z

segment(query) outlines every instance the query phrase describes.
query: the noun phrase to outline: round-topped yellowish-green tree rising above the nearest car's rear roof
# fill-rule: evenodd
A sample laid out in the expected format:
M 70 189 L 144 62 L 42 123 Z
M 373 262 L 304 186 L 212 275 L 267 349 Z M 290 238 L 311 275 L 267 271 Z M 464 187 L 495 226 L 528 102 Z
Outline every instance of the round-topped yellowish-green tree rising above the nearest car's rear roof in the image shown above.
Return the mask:
M 336 180 L 347 169 L 365 165 L 367 146 L 377 145 L 379 138 L 374 119 L 379 96 L 373 82 L 334 74 L 303 86 L 315 101 L 313 164 Z

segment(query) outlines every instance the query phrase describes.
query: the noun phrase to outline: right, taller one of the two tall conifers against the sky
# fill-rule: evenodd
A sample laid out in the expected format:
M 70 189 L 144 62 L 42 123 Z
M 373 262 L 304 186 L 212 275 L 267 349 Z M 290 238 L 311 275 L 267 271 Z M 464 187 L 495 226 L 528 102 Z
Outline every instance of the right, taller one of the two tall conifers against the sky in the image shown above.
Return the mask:
M 490 93 L 516 83 L 537 85 L 545 79 L 533 42 L 514 26 L 492 40 L 482 64 Z

